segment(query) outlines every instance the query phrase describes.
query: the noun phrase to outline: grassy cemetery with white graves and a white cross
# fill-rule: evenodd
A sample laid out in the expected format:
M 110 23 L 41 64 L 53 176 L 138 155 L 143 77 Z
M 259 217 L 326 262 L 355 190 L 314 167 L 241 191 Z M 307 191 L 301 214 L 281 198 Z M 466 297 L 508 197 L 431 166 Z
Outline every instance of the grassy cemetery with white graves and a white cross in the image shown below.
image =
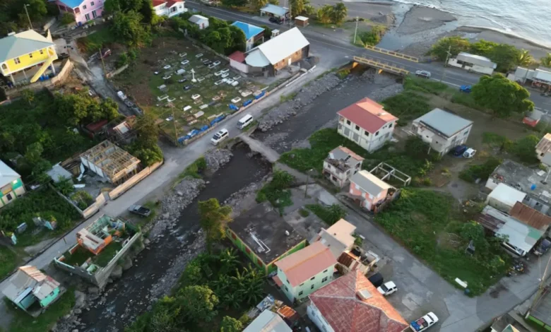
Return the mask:
M 158 47 L 143 49 L 134 68 L 116 81 L 146 112 L 158 117 L 160 128 L 172 139 L 235 112 L 230 100 L 240 97 L 235 105 L 242 107 L 256 90 L 264 88 L 187 40 L 160 39 Z

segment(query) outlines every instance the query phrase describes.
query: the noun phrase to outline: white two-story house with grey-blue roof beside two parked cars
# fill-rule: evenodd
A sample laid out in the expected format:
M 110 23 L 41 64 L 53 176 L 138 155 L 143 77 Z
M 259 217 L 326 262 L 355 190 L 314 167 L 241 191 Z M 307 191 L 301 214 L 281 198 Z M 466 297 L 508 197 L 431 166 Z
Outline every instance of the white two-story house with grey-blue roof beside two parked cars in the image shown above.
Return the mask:
M 429 143 L 432 150 L 444 155 L 467 142 L 472 126 L 473 121 L 435 108 L 413 120 L 412 131 Z

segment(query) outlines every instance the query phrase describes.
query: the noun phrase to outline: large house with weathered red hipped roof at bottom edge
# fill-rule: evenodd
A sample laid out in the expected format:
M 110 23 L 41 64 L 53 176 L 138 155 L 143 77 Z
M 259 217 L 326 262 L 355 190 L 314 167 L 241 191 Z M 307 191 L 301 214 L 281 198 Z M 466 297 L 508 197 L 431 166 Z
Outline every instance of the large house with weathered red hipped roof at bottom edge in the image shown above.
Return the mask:
M 321 331 L 400 332 L 408 328 L 403 317 L 360 271 L 333 280 L 309 298 L 308 316 Z

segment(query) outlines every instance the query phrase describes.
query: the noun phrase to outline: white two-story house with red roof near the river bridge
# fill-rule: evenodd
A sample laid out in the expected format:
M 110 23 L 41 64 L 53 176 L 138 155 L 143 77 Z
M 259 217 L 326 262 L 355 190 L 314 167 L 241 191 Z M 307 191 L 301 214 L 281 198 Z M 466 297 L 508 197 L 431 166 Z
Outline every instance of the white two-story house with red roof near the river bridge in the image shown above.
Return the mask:
M 386 112 L 383 105 L 369 98 L 340 109 L 338 134 L 357 143 L 368 152 L 381 148 L 390 141 L 397 117 Z

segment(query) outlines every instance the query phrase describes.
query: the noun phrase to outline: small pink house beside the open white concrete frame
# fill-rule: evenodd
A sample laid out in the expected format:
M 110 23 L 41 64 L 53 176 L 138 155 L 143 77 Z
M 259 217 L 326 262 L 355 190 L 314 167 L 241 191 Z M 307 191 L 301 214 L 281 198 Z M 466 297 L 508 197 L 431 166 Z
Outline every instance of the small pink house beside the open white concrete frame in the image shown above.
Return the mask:
M 396 188 L 383 180 L 361 170 L 350 178 L 348 193 L 356 199 L 362 208 L 373 211 L 377 204 L 384 202 L 387 196 L 392 195 Z

